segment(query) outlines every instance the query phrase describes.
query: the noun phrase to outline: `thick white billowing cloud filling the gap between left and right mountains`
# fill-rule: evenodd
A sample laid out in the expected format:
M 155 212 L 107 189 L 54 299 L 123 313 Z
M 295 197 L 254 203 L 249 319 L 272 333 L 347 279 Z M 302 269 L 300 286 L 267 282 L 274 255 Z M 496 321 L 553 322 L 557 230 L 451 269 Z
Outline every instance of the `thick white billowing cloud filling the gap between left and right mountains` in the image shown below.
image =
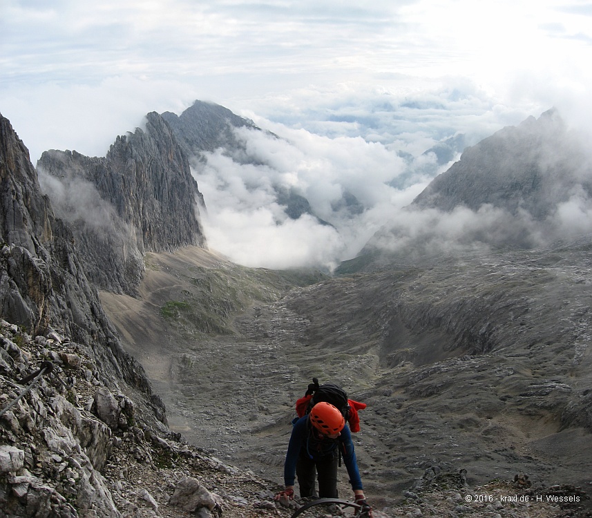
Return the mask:
M 408 204 L 416 187 L 385 182 L 405 168 L 397 153 L 361 137 L 330 139 L 269 124 L 278 135 L 242 128 L 237 137 L 253 163 L 208 153 L 194 174 L 204 194 L 209 246 L 245 265 L 270 268 L 335 267 L 379 229 L 389 213 Z M 277 189 L 304 196 L 312 213 L 287 217 Z M 359 207 L 348 210 L 344 195 Z M 316 216 L 316 217 L 315 217 Z

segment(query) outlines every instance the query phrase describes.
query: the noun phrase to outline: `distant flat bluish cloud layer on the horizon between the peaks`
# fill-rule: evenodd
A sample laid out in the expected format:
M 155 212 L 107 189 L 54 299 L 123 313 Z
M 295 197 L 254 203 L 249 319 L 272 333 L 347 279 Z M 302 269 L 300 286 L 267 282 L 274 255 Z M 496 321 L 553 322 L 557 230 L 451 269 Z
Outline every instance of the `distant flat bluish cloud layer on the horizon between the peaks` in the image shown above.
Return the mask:
M 518 124 L 548 104 L 508 104 L 475 81 L 399 78 L 393 88 L 347 82 L 245 99 L 231 108 L 260 124 L 278 122 L 326 137 L 363 137 L 419 155 L 457 133 L 475 144 L 502 126 Z M 269 121 L 269 122 L 268 122 Z

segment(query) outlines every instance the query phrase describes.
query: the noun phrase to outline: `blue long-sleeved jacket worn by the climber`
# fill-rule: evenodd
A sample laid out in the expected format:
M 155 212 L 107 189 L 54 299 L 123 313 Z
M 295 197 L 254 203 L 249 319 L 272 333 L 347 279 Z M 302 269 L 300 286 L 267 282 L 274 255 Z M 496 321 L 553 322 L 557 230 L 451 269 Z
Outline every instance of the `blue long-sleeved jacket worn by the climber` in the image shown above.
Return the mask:
M 303 449 L 311 459 L 318 459 L 333 454 L 335 448 L 341 449 L 343 462 L 345 463 L 345 468 L 347 468 L 347 474 L 350 475 L 352 489 L 363 489 L 350 428 L 345 425 L 343 430 L 341 430 L 341 435 L 337 439 L 329 439 L 327 437 L 318 440 L 312 430 L 312 425 L 309 425 L 307 415 L 300 417 L 300 419 L 294 423 L 294 428 L 292 429 L 292 437 L 290 437 L 286 461 L 284 463 L 285 485 L 294 486 L 294 480 L 296 479 L 296 461 L 298 461 L 298 455 L 300 455 L 300 452 Z

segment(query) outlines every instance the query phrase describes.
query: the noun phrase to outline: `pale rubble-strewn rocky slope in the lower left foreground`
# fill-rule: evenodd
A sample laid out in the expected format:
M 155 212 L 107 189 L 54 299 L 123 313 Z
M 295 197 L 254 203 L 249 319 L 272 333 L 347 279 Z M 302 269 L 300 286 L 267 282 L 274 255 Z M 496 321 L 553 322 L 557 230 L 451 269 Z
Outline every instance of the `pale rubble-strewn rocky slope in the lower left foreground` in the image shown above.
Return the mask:
M 75 352 L 79 363 L 61 359 Z M 46 358 L 50 374 L 15 401 L 23 376 Z M 0 318 L 2 518 L 292 515 L 275 505 L 276 483 L 136 421 L 139 399 L 107 389 L 95 376 L 103 368 L 83 344 L 58 340 L 55 332 L 32 337 Z M 117 425 L 97 416 L 98 394 L 107 402 L 100 413 L 119 414 Z M 134 392 L 127 387 L 126 394 Z

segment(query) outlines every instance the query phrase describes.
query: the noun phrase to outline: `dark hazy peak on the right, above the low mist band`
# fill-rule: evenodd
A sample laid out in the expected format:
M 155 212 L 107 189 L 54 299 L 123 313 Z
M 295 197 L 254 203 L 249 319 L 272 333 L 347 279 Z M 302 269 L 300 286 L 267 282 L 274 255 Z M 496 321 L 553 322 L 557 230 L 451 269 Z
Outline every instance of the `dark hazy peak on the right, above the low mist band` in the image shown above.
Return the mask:
M 478 210 L 492 204 L 536 220 L 551 215 L 580 185 L 592 195 L 592 164 L 558 111 L 528 117 L 466 148 L 459 162 L 437 176 L 413 201 L 415 207 Z

